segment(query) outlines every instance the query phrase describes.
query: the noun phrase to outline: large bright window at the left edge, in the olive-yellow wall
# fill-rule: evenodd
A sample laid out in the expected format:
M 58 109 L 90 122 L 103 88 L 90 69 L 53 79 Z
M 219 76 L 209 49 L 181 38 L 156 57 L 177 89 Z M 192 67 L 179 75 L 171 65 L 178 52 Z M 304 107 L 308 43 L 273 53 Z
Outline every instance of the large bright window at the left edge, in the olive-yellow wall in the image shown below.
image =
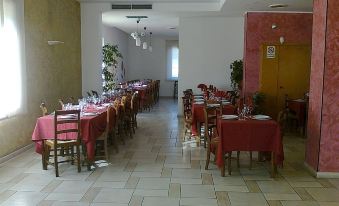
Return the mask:
M 23 105 L 23 0 L 0 0 L 0 119 Z

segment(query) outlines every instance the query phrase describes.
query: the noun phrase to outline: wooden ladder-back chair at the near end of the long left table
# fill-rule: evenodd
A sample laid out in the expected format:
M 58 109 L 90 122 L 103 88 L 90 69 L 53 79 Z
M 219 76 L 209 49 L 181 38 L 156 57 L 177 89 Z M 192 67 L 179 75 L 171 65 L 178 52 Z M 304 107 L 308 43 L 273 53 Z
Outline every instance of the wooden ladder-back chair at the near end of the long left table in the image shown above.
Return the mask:
M 66 127 L 67 124 L 67 128 Z M 80 166 L 80 111 L 79 110 L 57 110 L 54 114 L 54 139 L 43 140 L 42 165 L 47 170 L 47 165 L 55 167 L 55 176 L 59 177 L 59 163 L 71 162 L 74 164 L 76 160 L 78 172 L 81 171 Z M 65 138 L 66 136 L 66 138 Z M 72 136 L 72 138 L 69 138 Z M 68 159 L 59 161 L 60 150 L 68 148 L 71 152 Z M 76 153 L 74 153 L 74 148 Z M 50 155 L 50 152 L 53 155 Z M 58 154 L 59 152 L 59 154 Z M 75 156 L 76 155 L 76 156 Z M 54 161 L 50 161 L 50 156 L 54 157 Z

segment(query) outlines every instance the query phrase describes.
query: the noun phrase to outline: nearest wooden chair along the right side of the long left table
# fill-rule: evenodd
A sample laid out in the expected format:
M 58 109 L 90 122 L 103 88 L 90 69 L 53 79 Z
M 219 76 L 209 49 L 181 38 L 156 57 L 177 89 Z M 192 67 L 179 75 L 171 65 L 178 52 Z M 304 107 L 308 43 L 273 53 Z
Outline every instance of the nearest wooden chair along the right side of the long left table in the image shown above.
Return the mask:
M 115 119 L 113 119 L 113 112 L 114 108 L 111 106 L 107 107 L 107 121 L 106 121 L 106 129 L 104 131 L 104 133 L 96 139 L 96 148 L 95 148 L 95 158 L 96 159 L 102 159 L 104 158 L 106 161 L 109 160 L 108 158 L 108 139 L 110 138 L 110 136 L 112 135 L 112 130 L 113 130 L 113 122 L 115 121 Z

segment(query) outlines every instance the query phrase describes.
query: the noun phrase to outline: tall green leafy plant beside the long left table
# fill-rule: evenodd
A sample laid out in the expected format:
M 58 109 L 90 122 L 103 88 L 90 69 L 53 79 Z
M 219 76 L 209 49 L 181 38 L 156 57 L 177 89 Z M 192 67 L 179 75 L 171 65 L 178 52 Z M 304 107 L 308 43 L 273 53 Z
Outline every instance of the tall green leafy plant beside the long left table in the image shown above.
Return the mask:
M 119 58 L 123 58 L 120 51 L 118 50 L 118 45 L 105 44 L 102 47 L 102 79 L 103 79 L 103 91 L 108 92 L 115 88 L 116 82 L 116 73 L 117 73 L 117 64 Z

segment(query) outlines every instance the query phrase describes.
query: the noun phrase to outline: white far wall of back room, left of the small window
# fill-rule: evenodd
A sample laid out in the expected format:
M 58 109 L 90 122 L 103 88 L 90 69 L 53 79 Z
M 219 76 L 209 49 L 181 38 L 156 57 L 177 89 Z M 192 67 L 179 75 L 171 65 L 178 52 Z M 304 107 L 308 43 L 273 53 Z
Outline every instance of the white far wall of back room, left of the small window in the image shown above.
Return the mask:
M 129 38 L 127 79 L 159 79 L 160 96 L 173 96 L 174 82 L 167 80 L 166 39 L 152 38 L 152 47 L 152 52 L 143 50 Z

